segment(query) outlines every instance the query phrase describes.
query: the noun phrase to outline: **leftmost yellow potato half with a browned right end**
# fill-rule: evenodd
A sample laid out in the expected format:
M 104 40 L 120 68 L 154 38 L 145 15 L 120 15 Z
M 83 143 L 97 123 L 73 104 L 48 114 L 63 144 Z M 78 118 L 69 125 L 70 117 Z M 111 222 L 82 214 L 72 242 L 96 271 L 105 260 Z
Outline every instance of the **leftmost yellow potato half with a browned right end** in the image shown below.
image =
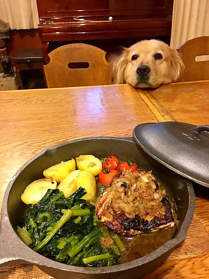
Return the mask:
M 56 189 L 56 187 L 57 182 L 52 178 L 35 180 L 26 187 L 21 195 L 21 200 L 26 204 L 36 204 L 43 198 L 48 189 Z

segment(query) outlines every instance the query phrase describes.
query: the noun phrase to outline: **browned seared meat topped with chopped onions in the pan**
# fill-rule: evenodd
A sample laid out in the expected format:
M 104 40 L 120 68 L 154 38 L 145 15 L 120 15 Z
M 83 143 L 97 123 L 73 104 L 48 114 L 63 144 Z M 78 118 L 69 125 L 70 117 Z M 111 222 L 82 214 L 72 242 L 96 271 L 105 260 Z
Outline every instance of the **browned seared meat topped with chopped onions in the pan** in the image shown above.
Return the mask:
M 96 215 L 107 229 L 127 236 L 174 226 L 168 196 L 152 171 L 129 170 L 113 177 Z

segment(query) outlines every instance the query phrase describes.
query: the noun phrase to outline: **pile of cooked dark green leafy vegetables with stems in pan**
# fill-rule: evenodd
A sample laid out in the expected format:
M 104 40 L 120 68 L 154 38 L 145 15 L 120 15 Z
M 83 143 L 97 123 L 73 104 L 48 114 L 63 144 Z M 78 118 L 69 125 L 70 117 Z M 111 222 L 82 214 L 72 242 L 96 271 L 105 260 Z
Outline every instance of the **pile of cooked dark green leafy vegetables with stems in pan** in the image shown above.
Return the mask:
M 86 190 L 79 188 L 65 198 L 59 189 L 48 189 L 42 200 L 28 205 L 28 212 L 17 227 L 22 241 L 45 257 L 70 265 L 102 267 L 118 264 L 117 243 L 114 239 L 116 245 L 109 249 L 101 244 L 100 237 L 109 232 L 97 227 L 101 222 L 95 216 L 94 205 L 82 199 L 85 194 Z M 97 260 L 93 260 L 94 257 Z M 91 260 L 84 260 L 88 258 Z

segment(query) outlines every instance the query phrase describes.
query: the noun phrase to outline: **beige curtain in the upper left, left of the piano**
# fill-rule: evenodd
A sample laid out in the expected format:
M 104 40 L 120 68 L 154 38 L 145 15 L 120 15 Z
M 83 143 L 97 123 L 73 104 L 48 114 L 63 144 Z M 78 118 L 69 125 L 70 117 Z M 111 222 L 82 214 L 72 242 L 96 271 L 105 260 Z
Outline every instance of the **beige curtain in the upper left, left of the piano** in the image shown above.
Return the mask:
M 36 0 L 0 0 L 0 19 L 8 22 L 11 29 L 37 28 Z

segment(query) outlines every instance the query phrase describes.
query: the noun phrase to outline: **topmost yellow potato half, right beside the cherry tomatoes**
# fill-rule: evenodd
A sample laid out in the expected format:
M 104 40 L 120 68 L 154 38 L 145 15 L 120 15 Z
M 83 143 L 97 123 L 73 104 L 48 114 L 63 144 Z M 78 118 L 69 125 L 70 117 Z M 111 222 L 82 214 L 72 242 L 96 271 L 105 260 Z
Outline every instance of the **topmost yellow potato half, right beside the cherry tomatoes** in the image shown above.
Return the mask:
M 93 155 L 80 155 L 75 160 L 81 171 L 89 171 L 94 176 L 102 171 L 102 162 Z

